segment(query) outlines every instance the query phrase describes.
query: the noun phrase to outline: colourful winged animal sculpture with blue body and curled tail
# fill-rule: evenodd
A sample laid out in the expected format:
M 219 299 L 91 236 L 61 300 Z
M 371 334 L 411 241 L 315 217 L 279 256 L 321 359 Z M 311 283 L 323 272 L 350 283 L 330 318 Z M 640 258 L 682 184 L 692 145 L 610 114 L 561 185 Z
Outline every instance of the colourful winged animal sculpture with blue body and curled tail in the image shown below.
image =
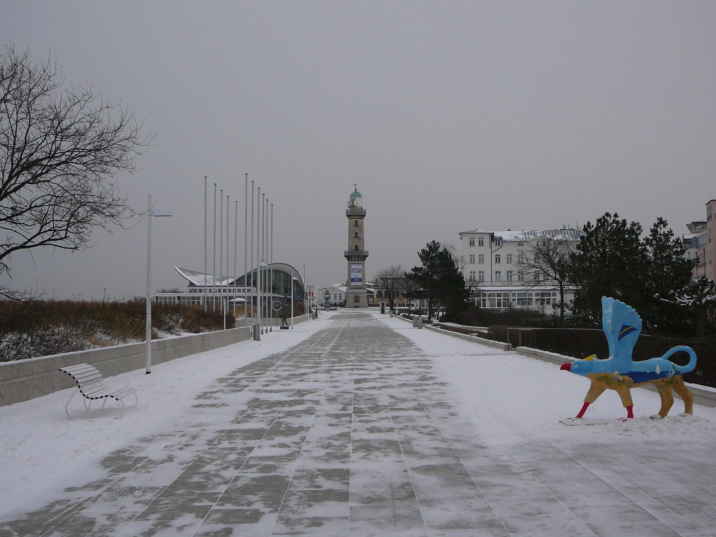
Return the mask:
M 599 397 L 604 390 L 615 390 L 621 397 L 621 404 L 627 409 L 627 418 L 634 417 L 632 412 L 632 387 L 654 384 L 662 400 L 659 414 L 652 419 L 665 417 L 672 405 L 674 396 L 672 390 L 677 392 L 684 400 L 684 414 L 693 414 L 694 397 L 684 385 L 682 374 L 694 370 L 696 367 L 696 353 L 691 347 L 679 346 L 669 349 L 663 356 L 632 361 L 632 349 L 642 333 L 642 319 L 631 306 L 616 299 L 601 297 L 601 324 L 609 342 L 609 358 L 595 359 L 592 354 L 585 359 L 574 360 L 562 364 L 560 369 L 579 374 L 591 380 L 589 391 L 584 397 L 584 405 L 576 417 L 584 416 L 587 407 Z M 684 366 L 669 361 L 669 357 L 677 352 L 687 352 L 689 363 Z

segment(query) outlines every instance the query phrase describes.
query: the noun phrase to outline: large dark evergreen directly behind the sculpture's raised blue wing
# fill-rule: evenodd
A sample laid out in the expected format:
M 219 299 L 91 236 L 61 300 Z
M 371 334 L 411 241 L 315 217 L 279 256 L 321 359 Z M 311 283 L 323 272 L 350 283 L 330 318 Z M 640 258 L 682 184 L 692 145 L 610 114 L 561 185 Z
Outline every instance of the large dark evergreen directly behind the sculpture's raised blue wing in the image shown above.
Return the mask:
M 587 222 L 583 231 L 571 256 L 576 284 L 574 315 L 599 322 L 602 296 L 612 296 L 642 311 L 649 302 L 649 252 L 641 238 L 642 226 L 619 220 L 617 213 L 604 213 L 594 226 Z

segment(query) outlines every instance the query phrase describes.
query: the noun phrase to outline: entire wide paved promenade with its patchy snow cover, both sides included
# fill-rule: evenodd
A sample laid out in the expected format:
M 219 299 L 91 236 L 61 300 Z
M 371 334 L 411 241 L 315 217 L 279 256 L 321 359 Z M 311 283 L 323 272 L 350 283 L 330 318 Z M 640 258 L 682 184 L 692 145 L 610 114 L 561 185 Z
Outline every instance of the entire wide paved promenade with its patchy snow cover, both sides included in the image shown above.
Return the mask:
M 654 422 L 634 390 L 634 420 L 565 427 L 586 379 L 399 319 L 141 373 L 110 379 L 139 393 L 122 417 L 67 420 L 69 390 L 0 408 L 0 537 L 716 536 L 716 409 Z

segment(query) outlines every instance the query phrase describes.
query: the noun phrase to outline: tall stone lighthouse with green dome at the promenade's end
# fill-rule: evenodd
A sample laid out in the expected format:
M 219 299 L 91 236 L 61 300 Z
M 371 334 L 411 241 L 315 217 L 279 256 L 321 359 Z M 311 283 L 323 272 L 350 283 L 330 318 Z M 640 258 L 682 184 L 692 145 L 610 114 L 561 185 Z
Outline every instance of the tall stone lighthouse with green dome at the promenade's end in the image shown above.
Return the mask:
M 357 185 L 348 198 L 346 218 L 348 218 L 348 249 L 344 256 L 348 261 L 348 280 L 346 281 L 346 307 L 365 308 L 368 306 L 368 294 L 365 286 L 365 249 L 363 221 L 365 209 L 363 196 L 358 192 Z

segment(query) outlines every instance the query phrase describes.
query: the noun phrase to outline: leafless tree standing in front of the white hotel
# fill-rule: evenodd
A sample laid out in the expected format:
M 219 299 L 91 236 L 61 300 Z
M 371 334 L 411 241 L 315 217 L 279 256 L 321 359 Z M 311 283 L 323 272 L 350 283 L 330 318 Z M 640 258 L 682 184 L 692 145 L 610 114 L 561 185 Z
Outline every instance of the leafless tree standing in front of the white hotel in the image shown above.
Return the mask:
M 575 251 L 570 241 L 551 236 L 528 243 L 518 256 L 518 269 L 523 271 L 528 285 L 559 291 L 559 322 L 564 324 L 564 291 L 571 276 L 571 253 Z

